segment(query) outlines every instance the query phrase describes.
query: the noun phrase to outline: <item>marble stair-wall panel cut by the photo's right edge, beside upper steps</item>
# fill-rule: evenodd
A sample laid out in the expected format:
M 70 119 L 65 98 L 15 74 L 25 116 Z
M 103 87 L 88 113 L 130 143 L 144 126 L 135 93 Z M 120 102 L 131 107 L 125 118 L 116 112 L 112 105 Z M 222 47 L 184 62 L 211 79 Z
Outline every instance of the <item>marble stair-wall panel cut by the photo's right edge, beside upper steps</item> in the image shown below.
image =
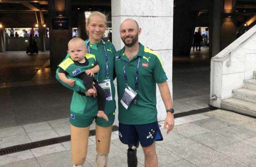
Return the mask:
M 256 53 L 246 54 L 245 55 L 245 80 L 253 78 L 253 71 L 256 71 Z

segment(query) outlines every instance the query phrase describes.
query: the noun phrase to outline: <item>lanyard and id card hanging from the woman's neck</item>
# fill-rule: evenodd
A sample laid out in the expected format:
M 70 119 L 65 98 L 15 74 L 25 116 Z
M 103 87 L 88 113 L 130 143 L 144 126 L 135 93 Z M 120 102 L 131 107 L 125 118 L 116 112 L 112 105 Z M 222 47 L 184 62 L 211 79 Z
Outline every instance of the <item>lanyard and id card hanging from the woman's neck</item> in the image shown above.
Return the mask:
M 107 79 L 100 81 L 99 85 L 100 87 L 102 87 L 102 89 L 104 90 L 104 92 L 106 93 L 106 101 L 111 101 L 113 100 L 112 97 L 112 92 L 111 92 L 111 82 L 109 79 L 109 59 L 107 57 L 107 50 L 105 47 L 105 42 L 103 40 L 101 40 L 102 44 L 103 44 L 103 48 L 104 48 L 104 52 L 105 52 L 105 59 L 106 59 L 106 77 Z M 88 49 L 88 53 L 90 54 L 90 41 L 87 41 L 87 49 Z

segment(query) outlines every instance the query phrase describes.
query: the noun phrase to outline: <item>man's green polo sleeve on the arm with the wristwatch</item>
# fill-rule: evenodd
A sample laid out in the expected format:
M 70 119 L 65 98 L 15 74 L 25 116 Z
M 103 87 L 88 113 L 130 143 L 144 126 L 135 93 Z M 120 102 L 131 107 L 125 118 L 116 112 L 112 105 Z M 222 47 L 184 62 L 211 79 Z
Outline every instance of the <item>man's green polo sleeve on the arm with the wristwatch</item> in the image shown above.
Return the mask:
M 163 65 L 157 57 L 154 61 L 153 77 L 158 84 L 165 82 L 168 79 L 166 73 L 164 72 Z

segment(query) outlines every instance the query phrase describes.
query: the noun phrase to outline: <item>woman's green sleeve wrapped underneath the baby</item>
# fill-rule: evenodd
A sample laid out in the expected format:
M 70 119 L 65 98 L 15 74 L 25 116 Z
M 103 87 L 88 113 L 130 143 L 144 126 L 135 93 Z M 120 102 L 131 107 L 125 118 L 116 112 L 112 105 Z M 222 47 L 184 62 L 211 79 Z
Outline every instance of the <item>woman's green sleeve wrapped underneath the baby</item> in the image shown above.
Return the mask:
M 71 89 L 71 90 L 73 90 L 73 91 L 75 91 L 75 92 L 85 92 L 86 91 L 86 89 L 85 89 L 85 86 L 83 85 L 83 81 L 81 80 L 81 79 L 79 79 L 79 78 L 71 78 L 70 77 L 70 75 L 66 75 L 66 77 L 68 78 L 68 79 L 74 79 L 75 80 L 75 86 L 74 87 L 71 87 L 71 86 L 69 86 L 68 84 L 65 84 L 64 82 L 62 82 L 61 80 L 60 80 L 60 78 L 58 77 L 58 71 L 60 70 L 60 68 L 57 68 L 57 70 L 56 70 L 56 79 L 63 85 L 63 86 L 65 86 L 65 87 L 67 87 L 68 89 Z

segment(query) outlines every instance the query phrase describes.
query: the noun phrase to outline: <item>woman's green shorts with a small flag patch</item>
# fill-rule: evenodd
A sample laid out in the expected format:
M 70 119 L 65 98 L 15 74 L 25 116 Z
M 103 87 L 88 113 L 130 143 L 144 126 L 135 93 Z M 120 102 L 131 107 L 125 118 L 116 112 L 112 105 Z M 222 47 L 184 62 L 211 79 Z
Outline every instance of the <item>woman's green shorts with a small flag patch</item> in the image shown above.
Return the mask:
M 88 127 L 92 125 L 92 122 L 95 119 L 95 122 L 97 125 L 107 127 L 114 123 L 115 112 L 111 112 L 110 114 L 107 114 L 107 117 L 109 118 L 109 122 L 97 116 L 81 116 L 81 115 L 70 114 L 70 123 L 75 127 Z

